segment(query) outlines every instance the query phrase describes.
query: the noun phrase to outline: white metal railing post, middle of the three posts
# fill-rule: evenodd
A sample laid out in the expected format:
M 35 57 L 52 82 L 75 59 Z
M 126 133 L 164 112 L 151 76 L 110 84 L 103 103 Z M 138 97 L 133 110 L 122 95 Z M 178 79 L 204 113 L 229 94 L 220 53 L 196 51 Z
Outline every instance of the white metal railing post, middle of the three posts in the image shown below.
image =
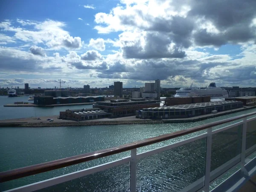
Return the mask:
M 208 128 L 207 140 L 206 140 L 204 192 L 209 192 L 209 189 L 210 189 L 211 155 L 212 155 L 212 128 Z

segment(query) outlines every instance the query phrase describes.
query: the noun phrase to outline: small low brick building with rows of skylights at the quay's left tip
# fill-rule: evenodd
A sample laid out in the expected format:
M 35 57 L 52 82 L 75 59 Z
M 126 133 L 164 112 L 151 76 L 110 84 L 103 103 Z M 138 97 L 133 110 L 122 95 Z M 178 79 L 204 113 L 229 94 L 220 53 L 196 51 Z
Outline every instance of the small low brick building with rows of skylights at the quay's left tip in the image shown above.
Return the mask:
M 101 119 L 105 117 L 112 116 L 112 113 L 108 113 L 102 111 L 99 108 L 90 108 L 90 109 L 76 109 L 60 111 L 60 117 L 68 120 L 74 121 L 84 121 L 84 120 L 92 120 L 92 119 Z

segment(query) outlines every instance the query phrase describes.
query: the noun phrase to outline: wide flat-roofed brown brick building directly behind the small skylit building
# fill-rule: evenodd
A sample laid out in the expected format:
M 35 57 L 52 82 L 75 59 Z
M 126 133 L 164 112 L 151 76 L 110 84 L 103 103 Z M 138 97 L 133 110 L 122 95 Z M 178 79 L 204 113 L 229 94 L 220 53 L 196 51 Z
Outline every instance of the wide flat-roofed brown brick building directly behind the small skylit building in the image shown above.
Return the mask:
M 115 99 L 105 102 L 96 102 L 93 108 L 100 108 L 104 111 L 113 113 L 113 116 L 132 116 L 136 110 L 143 108 L 160 107 L 157 101 L 129 101 L 126 99 Z

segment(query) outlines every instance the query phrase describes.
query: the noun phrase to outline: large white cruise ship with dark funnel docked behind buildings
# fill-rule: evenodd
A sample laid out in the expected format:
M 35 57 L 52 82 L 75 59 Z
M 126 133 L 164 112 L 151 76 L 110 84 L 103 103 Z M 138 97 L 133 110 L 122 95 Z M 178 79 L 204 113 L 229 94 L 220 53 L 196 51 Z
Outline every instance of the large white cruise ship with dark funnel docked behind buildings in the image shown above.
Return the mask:
M 176 91 L 175 97 L 192 97 L 192 96 L 211 96 L 211 99 L 227 98 L 227 90 L 216 87 L 215 82 L 209 84 L 208 87 L 192 87 L 180 88 Z

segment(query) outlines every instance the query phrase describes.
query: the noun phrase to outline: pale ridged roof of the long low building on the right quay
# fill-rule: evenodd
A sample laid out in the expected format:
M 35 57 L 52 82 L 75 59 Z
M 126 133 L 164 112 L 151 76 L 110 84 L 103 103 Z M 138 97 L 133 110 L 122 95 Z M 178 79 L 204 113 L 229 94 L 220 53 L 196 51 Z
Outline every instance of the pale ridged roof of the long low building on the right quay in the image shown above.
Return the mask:
M 231 103 L 240 103 L 238 101 L 215 101 L 215 102 L 205 102 L 205 103 L 192 103 L 186 105 L 174 105 L 166 107 L 148 108 L 148 109 L 195 109 L 195 108 L 205 108 L 210 106 L 225 105 Z

